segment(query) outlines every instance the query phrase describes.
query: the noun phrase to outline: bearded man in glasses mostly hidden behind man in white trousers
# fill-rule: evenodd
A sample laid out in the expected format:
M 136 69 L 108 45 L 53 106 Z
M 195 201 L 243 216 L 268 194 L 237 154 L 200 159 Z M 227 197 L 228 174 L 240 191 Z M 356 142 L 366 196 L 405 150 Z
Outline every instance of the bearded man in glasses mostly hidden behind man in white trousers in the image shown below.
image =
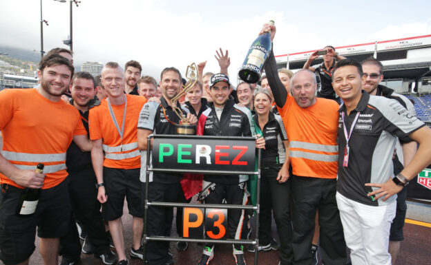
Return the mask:
M 403 107 L 405 107 L 410 115 L 416 116 L 414 111 L 414 105 L 412 102 L 401 94 L 394 93 L 393 89 L 379 85 L 383 80 L 383 65 L 370 57 L 365 59 L 361 63 L 363 74 L 366 77 L 362 83 L 362 88 L 370 95 L 373 96 L 384 96 L 385 98 L 392 98 L 397 100 Z M 416 142 L 403 142 L 401 145 L 399 139 L 396 140 L 396 156 L 392 159 L 394 163 L 394 175 L 403 170 L 407 166 L 416 153 L 417 144 Z M 396 257 L 400 250 L 400 242 L 404 240 L 403 226 L 405 221 L 405 213 L 407 212 L 407 204 L 405 199 L 407 198 L 407 189 L 403 187 L 396 197 L 396 214 L 392 221 L 389 236 L 389 253 L 392 257 L 392 264 L 395 264 Z

